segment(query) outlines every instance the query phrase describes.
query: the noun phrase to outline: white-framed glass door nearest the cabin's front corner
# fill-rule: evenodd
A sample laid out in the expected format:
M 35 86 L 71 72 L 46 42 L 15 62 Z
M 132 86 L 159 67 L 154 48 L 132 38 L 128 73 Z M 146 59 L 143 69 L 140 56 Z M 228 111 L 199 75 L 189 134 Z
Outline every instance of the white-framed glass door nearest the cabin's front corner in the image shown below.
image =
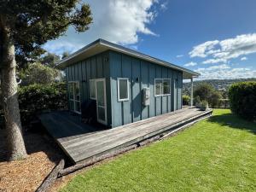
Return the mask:
M 96 108 L 97 121 L 99 123 L 107 125 L 108 121 L 105 79 L 96 79 Z

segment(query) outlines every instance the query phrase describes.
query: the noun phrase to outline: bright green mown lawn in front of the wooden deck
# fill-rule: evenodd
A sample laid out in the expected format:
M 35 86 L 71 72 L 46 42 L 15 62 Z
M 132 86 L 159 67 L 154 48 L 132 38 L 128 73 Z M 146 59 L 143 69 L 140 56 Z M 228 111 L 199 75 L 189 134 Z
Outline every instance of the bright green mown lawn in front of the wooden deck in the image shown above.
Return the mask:
M 256 191 L 256 124 L 210 119 L 74 177 L 61 191 Z

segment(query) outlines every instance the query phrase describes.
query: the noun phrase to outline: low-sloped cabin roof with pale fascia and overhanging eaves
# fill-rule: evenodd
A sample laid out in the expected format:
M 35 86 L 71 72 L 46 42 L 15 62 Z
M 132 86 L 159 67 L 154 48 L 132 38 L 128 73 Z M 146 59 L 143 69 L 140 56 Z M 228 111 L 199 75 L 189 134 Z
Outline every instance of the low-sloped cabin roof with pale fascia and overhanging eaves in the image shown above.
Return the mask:
M 74 64 L 77 61 L 84 60 L 85 58 L 88 58 L 92 55 L 96 55 L 98 53 L 102 53 L 103 51 L 106 51 L 106 50 L 114 50 L 119 53 L 123 53 L 125 55 L 131 55 L 139 59 L 143 59 L 145 61 L 153 62 L 160 66 L 170 67 L 172 69 L 182 71 L 183 79 L 190 79 L 192 77 L 198 77 L 200 75 L 200 73 L 196 73 L 187 68 L 174 65 L 167 61 L 162 61 L 152 56 L 140 53 L 136 50 L 125 48 L 119 44 L 113 44 L 102 38 L 99 38 L 96 41 L 92 42 L 91 44 L 84 46 L 82 49 L 79 49 L 78 51 L 74 52 L 72 55 L 68 55 L 63 60 L 59 61 L 59 63 L 57 64 L 57 67 L 63 69 L 67 66 Z

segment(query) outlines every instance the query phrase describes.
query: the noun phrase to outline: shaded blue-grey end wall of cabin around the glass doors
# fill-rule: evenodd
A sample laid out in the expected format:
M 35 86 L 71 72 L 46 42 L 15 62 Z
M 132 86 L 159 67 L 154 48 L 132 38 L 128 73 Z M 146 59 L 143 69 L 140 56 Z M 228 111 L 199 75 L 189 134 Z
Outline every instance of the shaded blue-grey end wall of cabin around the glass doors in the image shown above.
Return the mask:
M 111 122 L 111 94 L 108 51 L 79 61 L 65 69 L 68 81 L 79 81 L 81 103 L 90 99 L 90 79 L 106 79 L 108 126 Z

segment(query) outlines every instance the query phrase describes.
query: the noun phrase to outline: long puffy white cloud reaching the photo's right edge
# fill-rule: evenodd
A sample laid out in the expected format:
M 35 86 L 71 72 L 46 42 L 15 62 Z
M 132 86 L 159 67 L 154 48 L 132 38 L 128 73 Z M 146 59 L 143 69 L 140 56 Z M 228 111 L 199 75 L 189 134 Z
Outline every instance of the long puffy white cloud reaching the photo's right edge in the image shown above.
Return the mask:
M 195 46 L 190 52 L 190 57 L 212 56 L 212 60 L 205 63 L 217 63 L 229 61 L 241 55 L 256 53 L 256 33 L 243 34 L 236 38 L 228 38 L 222 41 L 207 41 Z

